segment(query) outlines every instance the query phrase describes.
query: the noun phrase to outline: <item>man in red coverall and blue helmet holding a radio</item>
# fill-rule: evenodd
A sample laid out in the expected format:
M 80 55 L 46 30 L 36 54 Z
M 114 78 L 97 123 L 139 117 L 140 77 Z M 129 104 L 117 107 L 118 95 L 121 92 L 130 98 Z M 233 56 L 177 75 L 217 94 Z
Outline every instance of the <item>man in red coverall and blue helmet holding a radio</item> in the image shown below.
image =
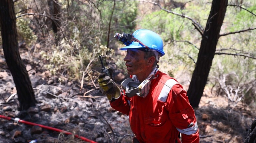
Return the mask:
M 181 133 L 182 143 L 198 143 L 199 130 L 187 92 L 157 69 L 159 57 L 165 54 L 160 36 L 139 29 L 115 37 L 126 45 L 120 50 L 127 50 L 123 60 L 131 76 L 121 83 L 124 92 L 104 73 L 98 81 L 111 107 L 129 115 L 134 142 L 177 143 Z

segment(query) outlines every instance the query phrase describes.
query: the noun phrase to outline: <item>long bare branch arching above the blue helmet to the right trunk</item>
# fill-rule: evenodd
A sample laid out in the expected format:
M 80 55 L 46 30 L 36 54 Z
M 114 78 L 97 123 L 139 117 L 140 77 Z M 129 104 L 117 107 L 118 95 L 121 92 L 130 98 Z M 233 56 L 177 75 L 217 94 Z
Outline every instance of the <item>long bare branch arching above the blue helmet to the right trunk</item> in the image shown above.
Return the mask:
M 187 18 L 187 19 L 192 21 L 192 24 L 195 24 L 195 25 L 197 25 L 197 27 L 200 28 L 200 30 L 199 30 L 200 33 L 202 33 L 202 31 L 204 31 L 203 27 L 198 22 L 196 22 L 195 20 L 193 20 L 191 17 L 189 17 L 187 15 L 178 14 L 178 13 L 175 13 L 173 11 L 167 10 L 167 9 L 163 8 L 160 4 L 158 4 L 156 2 L 153 2 L 153 1 L 149 1 L 149 0 L 138 0 L 138 1 L 140 1 L 140 2 L 148 2 L 148 3 L 154 4 L 154 5 L 158 5 L 160 9 L 162 9 L 162 10 L 168 12 L 168 13 L 175 14 L 175 15 L 181 16 L 183 18 Z

